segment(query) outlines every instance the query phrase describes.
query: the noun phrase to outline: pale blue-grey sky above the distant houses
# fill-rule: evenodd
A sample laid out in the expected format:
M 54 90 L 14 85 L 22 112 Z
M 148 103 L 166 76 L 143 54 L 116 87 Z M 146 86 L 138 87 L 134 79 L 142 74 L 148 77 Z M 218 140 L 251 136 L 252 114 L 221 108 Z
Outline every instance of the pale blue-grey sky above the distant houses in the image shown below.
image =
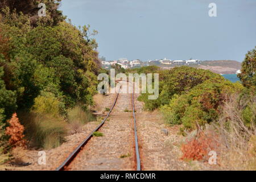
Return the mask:
M 98 31 L 106 60 L 243 61 L 256 46 L 256 0 L 62 0 L 60 10 Z

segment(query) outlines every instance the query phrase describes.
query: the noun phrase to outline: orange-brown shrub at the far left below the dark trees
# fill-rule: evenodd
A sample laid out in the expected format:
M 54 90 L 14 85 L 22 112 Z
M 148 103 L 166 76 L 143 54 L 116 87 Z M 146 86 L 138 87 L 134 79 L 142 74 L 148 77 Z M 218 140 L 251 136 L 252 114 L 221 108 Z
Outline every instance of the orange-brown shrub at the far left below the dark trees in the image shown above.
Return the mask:
M 13 147 L 24 146 L 26 144 L 23 139 L 24 126 L 20 125 L 17 114 L 14 113 L 9 121 L 10 126 L 6 127 L 6 134 L 10 135 L 9 144 Z

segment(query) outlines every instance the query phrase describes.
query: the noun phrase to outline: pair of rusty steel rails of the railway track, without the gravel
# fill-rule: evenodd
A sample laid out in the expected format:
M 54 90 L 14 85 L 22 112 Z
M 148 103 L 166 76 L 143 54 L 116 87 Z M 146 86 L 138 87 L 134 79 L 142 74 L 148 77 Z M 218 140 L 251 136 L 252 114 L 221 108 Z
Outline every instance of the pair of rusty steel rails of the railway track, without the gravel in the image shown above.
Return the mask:
M 88 143 L 88 141 L 93 137 L 93 133 L 95 131 L 98 131 L 106 122 L 106 120 L 109 118 L 110 113 L 112 113 L 115 104 L 117 103 L 118 100 L 118 96 L 121 90 L 121 87 L 119 87 L 118 89 L 118 93 L 115 96 L 115 100 L 114 103 L 111 107 L 111 109 L 109 110 L 108 114 L 106 115 L 106 117 L 102 120 L 102 122 L 100 123 L 100 125 L 98 125 L 96 127 L 96 129 L 94 129 L 80 144 L 79 146 L 77 146 L 75 148 L 75 150 L 68 156 L 67 159 L 65 159 L 65 161 L 56 168 L 56 171 L 64 171 L 65 169 L 67 169 L 67 167 L 69 166 L 69 164 L 72 163 L 72 161 L 76 158 L 77 154 L 79 154 L 79 152 L 82 150 L 82 148 L 84 148 L 84 146 L 86 145 L 86 143 Z M 133 89 L 134 89 L 134 84 L 133 84 Z M 135 143 L 135 156 L 136 156 L 136 170 L 137 171 L 141 171 L 141 157 L 139 154 L 139 144 L 138 144 L 138 135 L 137 135 L 137 125 L 136 125 L 136 117 L 135 117 L 135 105 L 134 105 L 134 92 L 131 93 L 131 101 L 132 101 L 132 108 L 133 108 L 133 121 L 134 121 L 134 143 Z

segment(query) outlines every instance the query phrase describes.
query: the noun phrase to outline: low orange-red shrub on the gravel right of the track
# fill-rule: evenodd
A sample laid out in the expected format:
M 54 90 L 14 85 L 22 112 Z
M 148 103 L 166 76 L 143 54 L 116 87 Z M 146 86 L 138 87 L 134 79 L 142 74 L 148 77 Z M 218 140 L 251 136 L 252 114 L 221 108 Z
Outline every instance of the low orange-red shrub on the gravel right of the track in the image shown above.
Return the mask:
M 218 147 L 216 137 L 217 135 L 214 133 L 206 134 L 200 131 L 196 137 L 181 145 L 181 151 L 183 152 L 181 159 L 202 160 L 206 158 L 210 151 L 216 150 Z

